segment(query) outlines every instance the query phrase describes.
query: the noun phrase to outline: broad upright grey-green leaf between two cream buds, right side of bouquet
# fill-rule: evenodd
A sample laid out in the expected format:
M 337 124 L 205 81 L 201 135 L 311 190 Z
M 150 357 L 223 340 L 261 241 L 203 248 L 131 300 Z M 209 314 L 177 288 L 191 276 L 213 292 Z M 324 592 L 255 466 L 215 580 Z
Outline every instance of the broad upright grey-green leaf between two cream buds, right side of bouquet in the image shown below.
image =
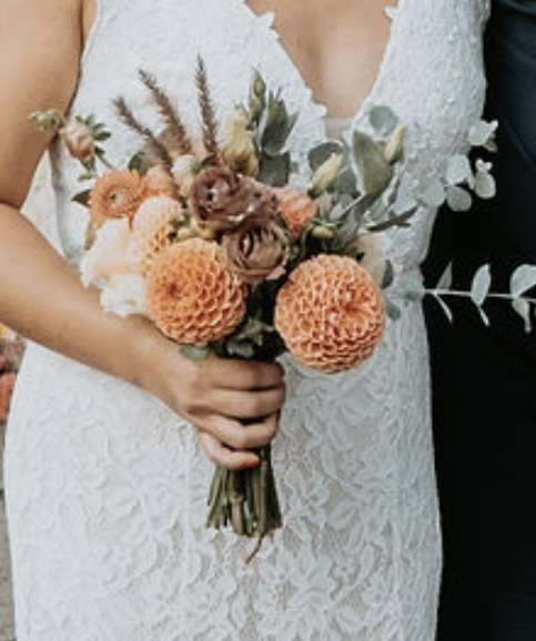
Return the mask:
M 370 135 L 354 131 L 352 153 L 364 193 L 381 194 L 393 177 L 393 167 L 385 159 L 382 145 Z

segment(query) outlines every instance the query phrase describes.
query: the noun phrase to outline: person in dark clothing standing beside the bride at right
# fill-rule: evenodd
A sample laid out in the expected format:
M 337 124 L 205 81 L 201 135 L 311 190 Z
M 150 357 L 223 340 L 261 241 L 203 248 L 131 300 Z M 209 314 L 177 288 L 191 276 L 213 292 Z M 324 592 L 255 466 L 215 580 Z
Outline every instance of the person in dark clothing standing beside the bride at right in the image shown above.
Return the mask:
M 442 211 L 425 263 L 434 285 L 452 262 L 468 289 L 489 263 L 508 291 L 536 264 L 536 0 L 493 0 L 486 29 L 486 119 L 497 195 L 471 212 Z M 432 352 L 444 578 L 437 641 L 536 640 L 536 327 L 504 301 L 426 302 Z

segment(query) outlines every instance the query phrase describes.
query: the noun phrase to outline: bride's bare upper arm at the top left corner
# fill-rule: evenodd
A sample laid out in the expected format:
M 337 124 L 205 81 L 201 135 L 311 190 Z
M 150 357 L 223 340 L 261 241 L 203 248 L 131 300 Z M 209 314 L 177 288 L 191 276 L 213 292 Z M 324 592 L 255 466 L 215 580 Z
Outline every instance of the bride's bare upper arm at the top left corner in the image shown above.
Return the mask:
M 85 0 L 0 0 L 0 201 L 19 204 L 48 139 L 28 119 L 77 89 Z

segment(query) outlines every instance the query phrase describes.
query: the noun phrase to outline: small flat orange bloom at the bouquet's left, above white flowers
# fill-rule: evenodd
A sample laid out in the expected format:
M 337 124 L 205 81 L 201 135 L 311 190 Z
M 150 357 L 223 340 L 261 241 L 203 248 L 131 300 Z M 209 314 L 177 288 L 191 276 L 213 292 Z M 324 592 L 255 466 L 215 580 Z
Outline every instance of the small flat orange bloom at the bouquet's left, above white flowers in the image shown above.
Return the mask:
M 90 216 L 94 227 L 108 218 L 132 220 L 146 197 L 146 179 L 136 171 L 112 170 L 102 175 L 90 194 Z

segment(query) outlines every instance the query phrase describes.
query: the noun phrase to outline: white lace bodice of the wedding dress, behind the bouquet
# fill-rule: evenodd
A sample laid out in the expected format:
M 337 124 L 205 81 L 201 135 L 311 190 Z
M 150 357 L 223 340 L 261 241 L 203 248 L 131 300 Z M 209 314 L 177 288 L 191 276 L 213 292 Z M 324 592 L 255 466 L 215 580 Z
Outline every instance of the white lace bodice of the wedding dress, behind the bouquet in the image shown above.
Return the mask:
M 400 0 L 388 9 L 391 37 L 354 124 L 363 124 L 371 105 L 390 105 L 409 125 L 406 165 L 414 176 L 436 171 L 458 151 L 481 112 L 479 33 L 486 10 L 486 0 Z M 194 71 L 201 55 L 221 116 L 244 100 L 254 69 L 274 91 L 281 89 L 289 109 L 299 113 L 289 145 L 303 160 L 326 135 L 326 110 L 314 101 L 272 23 L 271 13 L 255 14 L 244 0 L 159 0 L 149 16 L 144 0 L 99 0 L 71 111 L 93 113 L 113 131 L 107 150 L 120 166 L 140 141 L 118 123 L 112 99 L 123 95 L 144 122 L 152 122 L 154 110 L 146 109 L 148 96 L 136 80 L 144 69 L 172 96 L 192 131 L 199 131 Z M 59 149 L 53 156 L 59 232 L 69 258 L 78 262 L 85 227 L 85 212 L 70 202 L 80 191 L 78 167 Z M 390 234 L 393 257 L 402 267 L 423 256 L 432 221 L 421 218 L 424 225 Z

